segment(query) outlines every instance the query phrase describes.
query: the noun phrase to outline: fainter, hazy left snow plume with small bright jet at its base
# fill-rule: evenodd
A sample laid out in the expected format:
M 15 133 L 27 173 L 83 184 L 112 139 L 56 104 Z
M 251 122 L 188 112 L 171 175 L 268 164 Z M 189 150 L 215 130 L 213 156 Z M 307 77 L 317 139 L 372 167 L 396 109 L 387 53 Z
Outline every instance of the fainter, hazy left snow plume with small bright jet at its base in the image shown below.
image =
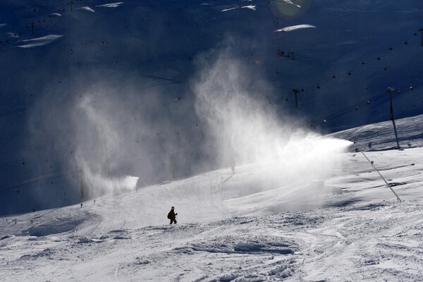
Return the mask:
M 94 72 L 56 82 L 60 87 L 51 83 L 32 108 L 25 155 L 38 151 L 32 175 L 56 178 L 28 190 L 39 191 L 39 202 L 60 206 L 133 191 L 137 180 L 138 186 L 171 180 L 169 158 L 177 165 L 182 158 L 176 152 L 189 138 L 176 123 L 189 114 L 178 107 L 178 96 L 154 87 L 163 83 L 138 74 L 105 81 Z M 186 174 L 181 169 L 178 178 Z

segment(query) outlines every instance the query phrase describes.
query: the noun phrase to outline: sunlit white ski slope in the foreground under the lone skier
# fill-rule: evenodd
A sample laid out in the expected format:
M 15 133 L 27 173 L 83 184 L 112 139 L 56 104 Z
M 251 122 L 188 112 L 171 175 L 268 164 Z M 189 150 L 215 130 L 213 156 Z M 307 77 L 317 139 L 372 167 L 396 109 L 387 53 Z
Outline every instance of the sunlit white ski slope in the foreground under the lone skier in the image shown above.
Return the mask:
M 260 181 L 211 171 L 0 223 L 2 281 L 422 281 L 422 116 L 404 150 L 345 152 L 333 177 Z M 389 147 L 390 122 L 336 133 Z M 372 132 L 370 135 L 369 132 Z M 393 132 L 391 132 L 393 136 Z M 377 143 L 377 142 L 376 142 Z M 367 148 L 369 149 L 369 148 Z M 282 173 L 282 172 L 281 172 Z M 176 206 L 178 224 L 166 214 Z M 6 221 L 7 219 L 7 221 Z

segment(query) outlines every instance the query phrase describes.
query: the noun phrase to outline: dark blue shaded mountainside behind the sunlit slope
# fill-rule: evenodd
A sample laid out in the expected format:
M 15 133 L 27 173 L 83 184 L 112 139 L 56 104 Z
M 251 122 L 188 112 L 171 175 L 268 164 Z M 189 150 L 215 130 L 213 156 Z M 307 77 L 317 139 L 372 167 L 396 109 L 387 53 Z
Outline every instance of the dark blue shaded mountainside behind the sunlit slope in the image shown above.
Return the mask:
M 225 94 L 247 113 L 276 113 L 261 116 L 292 125 L 289 135 L 387 121 L 386 87 L 401 90 L 396 118 L 422 114 L 417 0 L 75 0 L 72 10 L 0 3 L 2 214 L 75 204 L 81 181 L 92 199 L 105 192 L 99 178 L 150 185 L 230 166 L 221 156 L 233 131 L 222 138 L 209 121 L 239 109 L 204 112 L 231 102 Z

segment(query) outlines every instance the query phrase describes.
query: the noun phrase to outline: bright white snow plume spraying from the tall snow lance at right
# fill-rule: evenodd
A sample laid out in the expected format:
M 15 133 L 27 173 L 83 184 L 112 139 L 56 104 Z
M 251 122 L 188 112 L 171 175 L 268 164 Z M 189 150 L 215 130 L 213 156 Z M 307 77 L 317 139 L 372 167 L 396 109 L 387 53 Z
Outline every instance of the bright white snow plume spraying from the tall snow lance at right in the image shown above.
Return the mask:
M 274 90 L 231 56 L 212 52 L 200 59 L 195 109 L 217 144 L 222 166 L 259 163 L 268 189 L 309 185 L 333 175 L 350 142 L 311 133 L 278 112 L 266 96 Z M 217 59 L 216 59 L 217 58 Z

